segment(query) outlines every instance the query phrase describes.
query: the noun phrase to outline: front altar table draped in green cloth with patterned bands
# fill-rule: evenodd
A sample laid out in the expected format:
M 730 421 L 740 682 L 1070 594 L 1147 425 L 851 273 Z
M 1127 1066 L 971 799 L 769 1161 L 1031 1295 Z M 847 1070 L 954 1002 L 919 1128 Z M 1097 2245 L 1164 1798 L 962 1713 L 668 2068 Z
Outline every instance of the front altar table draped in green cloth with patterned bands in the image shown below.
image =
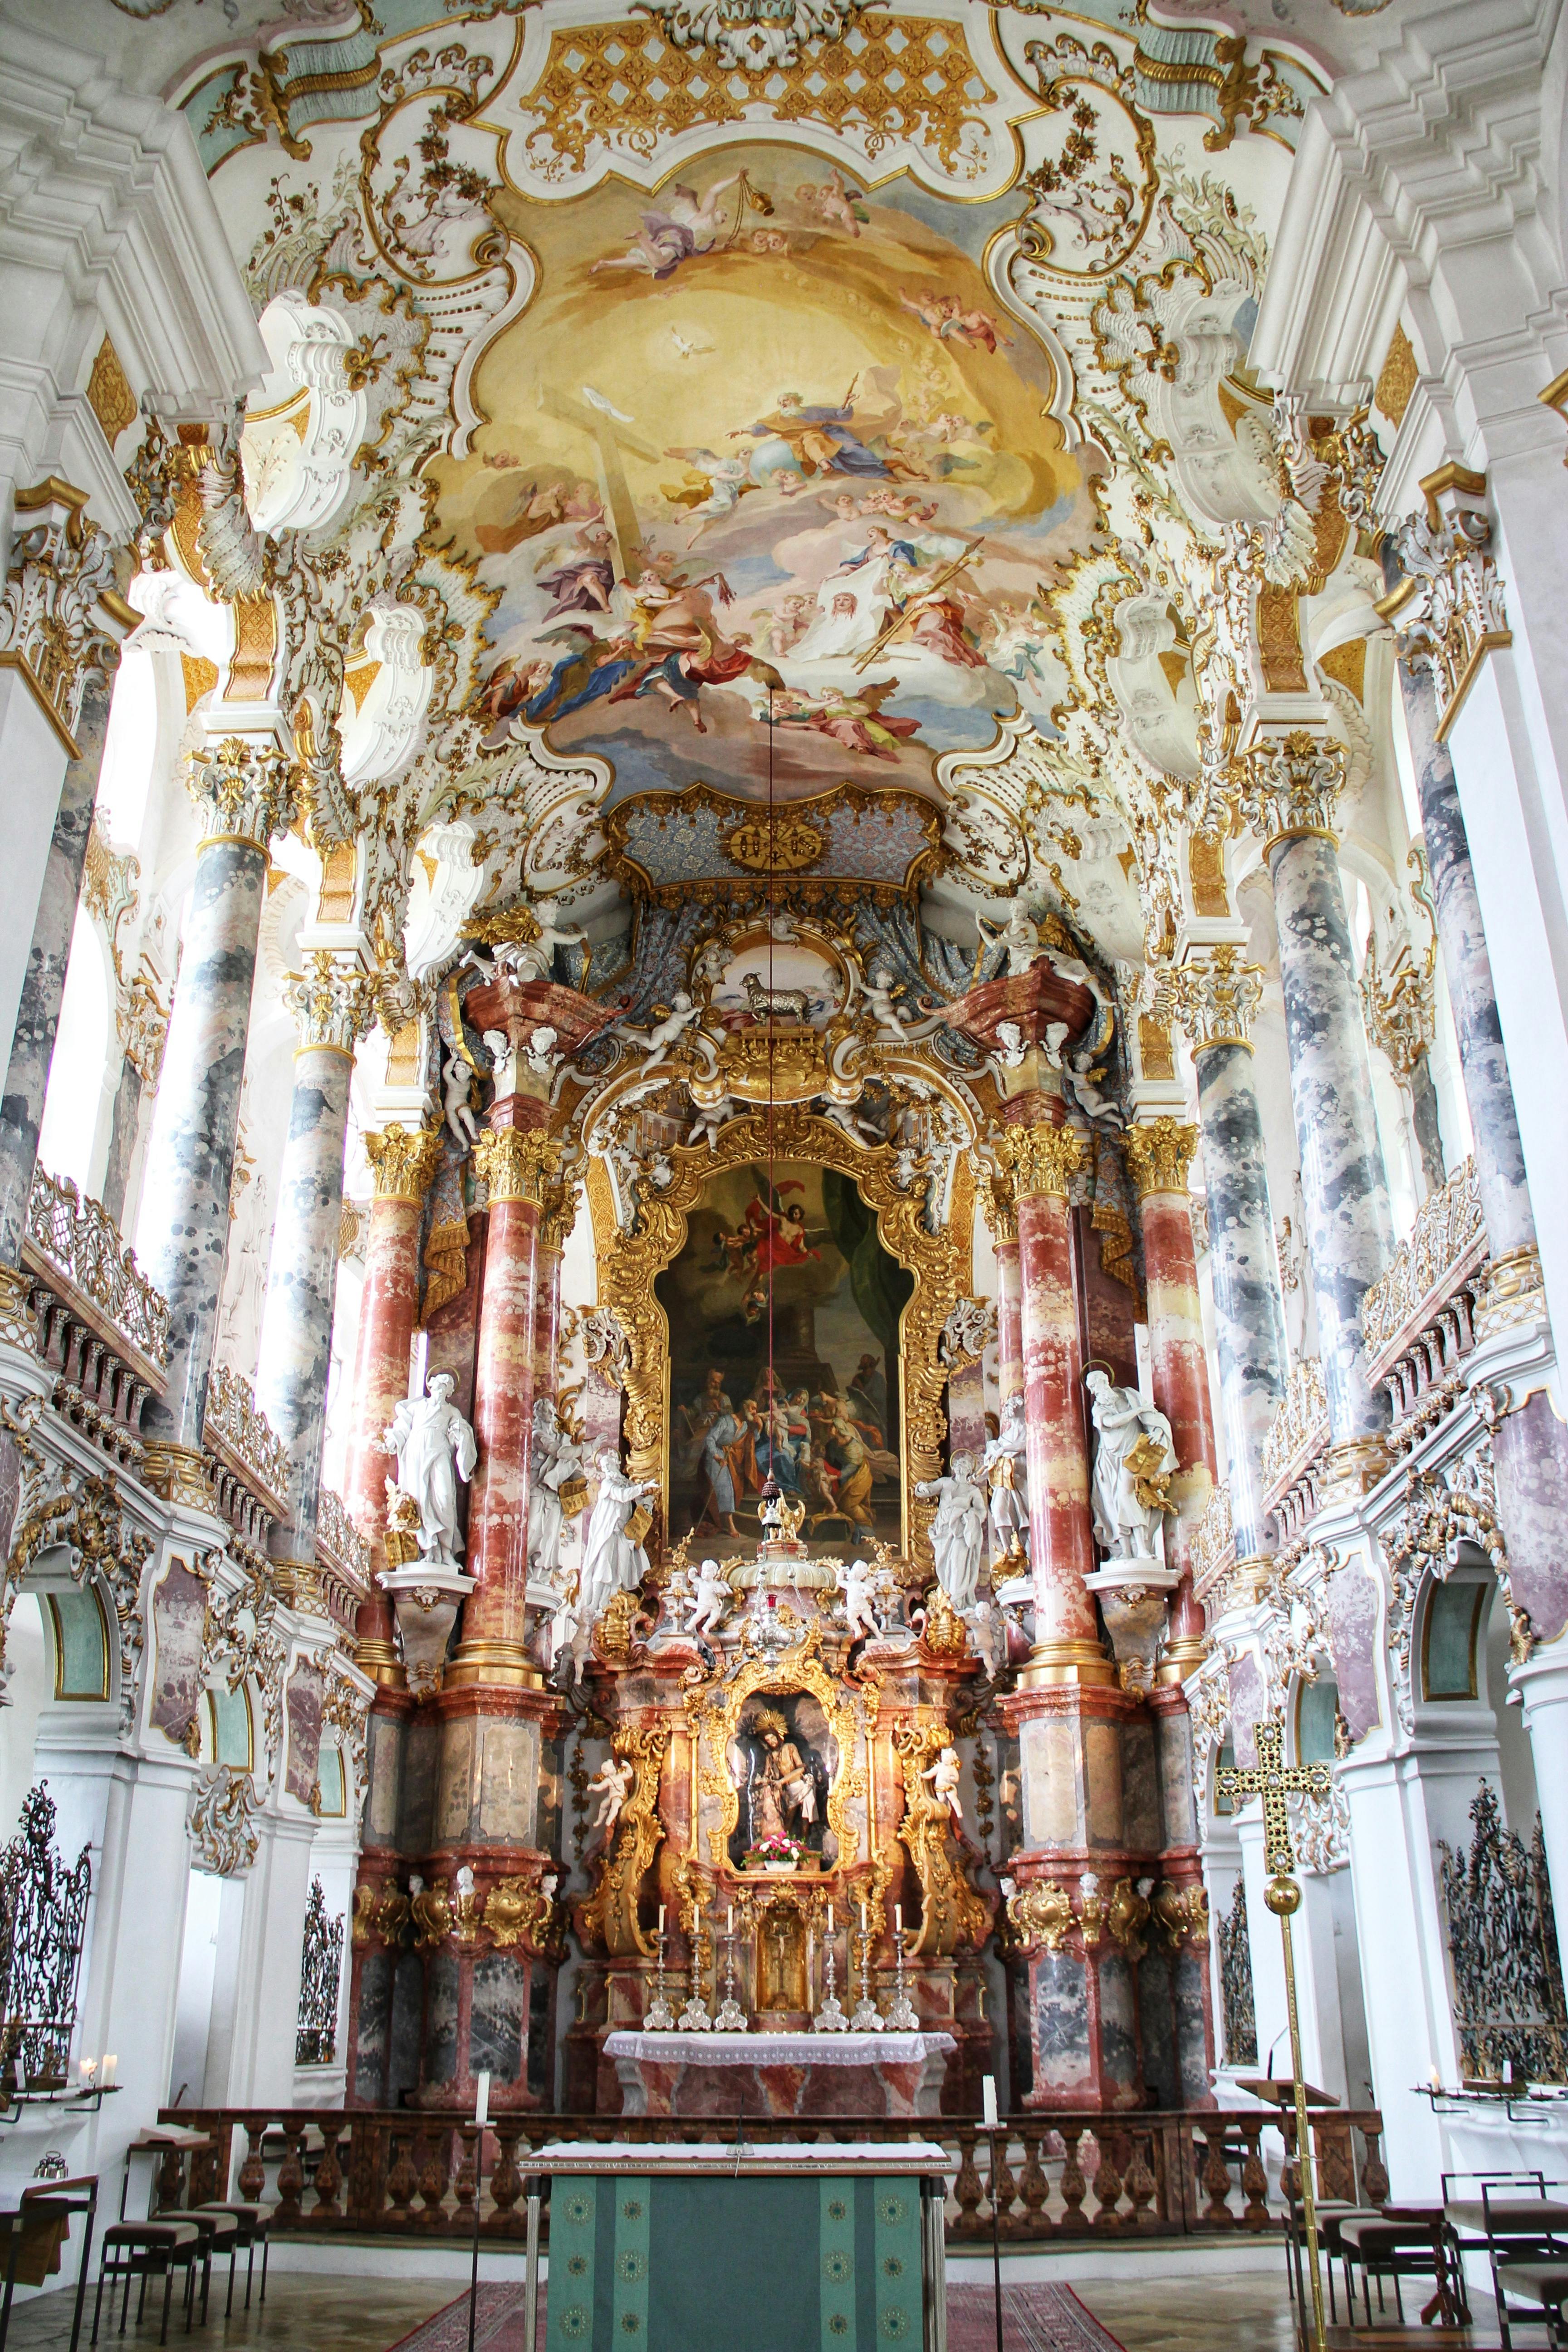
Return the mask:
M 545 2352 L 938 2352 L 945 2157 L 898 2147 L 543 2147 Z

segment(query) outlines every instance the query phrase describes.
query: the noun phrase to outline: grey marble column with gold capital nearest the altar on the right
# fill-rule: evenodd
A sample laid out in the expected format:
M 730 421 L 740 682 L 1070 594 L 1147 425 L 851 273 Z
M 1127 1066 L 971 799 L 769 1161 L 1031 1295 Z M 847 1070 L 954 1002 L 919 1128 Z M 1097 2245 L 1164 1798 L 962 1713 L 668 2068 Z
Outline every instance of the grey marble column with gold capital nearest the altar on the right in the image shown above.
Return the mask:
M 1241 960 L 1237 943 L 1213 946 L 1171 976 L 1173 1011 L 1187 1030 L 1199 1082 L 1237 1562 L 1260 1559 L 1272 1548 L 1262 1512 L 1262 1442 L 1286 1392 L 1288 1369 L 1286 1303 L 1253 1077 L 1251 1025 L 1260 995 L 1258 967 Z

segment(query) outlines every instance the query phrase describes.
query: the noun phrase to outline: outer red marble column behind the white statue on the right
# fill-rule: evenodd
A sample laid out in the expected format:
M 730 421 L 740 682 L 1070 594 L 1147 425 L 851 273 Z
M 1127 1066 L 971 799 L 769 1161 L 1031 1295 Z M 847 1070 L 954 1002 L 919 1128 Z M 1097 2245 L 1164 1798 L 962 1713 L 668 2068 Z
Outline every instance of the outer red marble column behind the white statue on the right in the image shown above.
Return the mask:
M 1143 1263 L 1150 1296 L 1150 1371 L 1154 1404 L 1171 1421 L 1175 1442 L 1175 1557 L 1182 1583 L 1171 1606 L 1171 1642 L 1161 1675 L 1190 1675 L 1201 1656 L 1204 1611 L 1192 1595 L 1192 1531 L 1208 1510 L 1215 1486 L 1213 1406 L 1204 1352 L 1197 1251 L 1187 1171 L 1197 1150 L 1197 1127 L 1147 1120 L 1126 1134 L 1126 1169 L 1138 1192 Z M 1168 1672 L 1175 1670 L 1175 1672 Z

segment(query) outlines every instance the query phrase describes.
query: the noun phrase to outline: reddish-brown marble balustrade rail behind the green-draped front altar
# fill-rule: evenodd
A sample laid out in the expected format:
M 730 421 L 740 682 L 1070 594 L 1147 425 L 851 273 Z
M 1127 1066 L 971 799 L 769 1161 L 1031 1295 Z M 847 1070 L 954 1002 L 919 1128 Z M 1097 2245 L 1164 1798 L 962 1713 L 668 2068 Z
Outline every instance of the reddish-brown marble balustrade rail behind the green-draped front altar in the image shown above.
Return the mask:
M 169 2147 L 158 2173 L 158 2211 L 237 2194 L 270 2204 L 273 2227 L 301 2237 L 473 2237 L 475 2126 L 418 2110 L 259 2112 L 247 2107 L 165 2107 L 165 2124 L 209 2136 L 207 2150 Z M 999 2143 L 1001 2237 L 1034 2244 L 1070 2237 L 1201 2237 L 1281 2227 L 1269 2194 L 1267 2112 L 1222 2107 L 1180 2112 L 1011 2117 Z M 503 2114 L 487 2126 L 480 2237 L 524 2234 L 527 2178 L 548 2140 L 616 2145 L 731 2143 L 736 2124 L 668 2114 Z M 976 2124 L 950 2117 L 745 2117 L 755 2147 L 776 2140 L 938 2140 L 947 2154 L 947 2239 L 990 2241 L 990 2152 Z M 1382 2114 L 1349 2107 L 1314 2114 L 1319 2197 L 1378 2206 Z M 1274 2150 L 1279 2166 L 1279 2147 Z M 548 2213 L 548 2185 L 545 2185 Z

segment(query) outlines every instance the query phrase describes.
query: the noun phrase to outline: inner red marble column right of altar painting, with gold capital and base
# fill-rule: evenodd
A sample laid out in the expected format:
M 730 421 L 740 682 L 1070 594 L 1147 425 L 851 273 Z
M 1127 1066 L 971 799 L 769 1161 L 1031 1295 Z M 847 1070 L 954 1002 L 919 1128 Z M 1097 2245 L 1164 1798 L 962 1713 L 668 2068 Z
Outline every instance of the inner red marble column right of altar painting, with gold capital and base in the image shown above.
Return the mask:
M 1046 1108 L 1046 1098 L 1041 1098 Z M 1060 1103 L 1048 1105 L 1060 1115 Z M 1084 1138 L 1039 1120 L 1006 1127 L 1001 1150 L 1018 1200 L 1018 1272 L 1025 1437 L 1030 1463 L 1030 1571 L 1034 1578 L 1034 1653 L 1030 1682 L 1112 1682 L 1095 1606 L 1088 1512 L 1088 1432 L 1084 1421 L 1084 1348 L 1072 1287 L 1072 1209 L 1067 1183 L 1084 1160 Z

